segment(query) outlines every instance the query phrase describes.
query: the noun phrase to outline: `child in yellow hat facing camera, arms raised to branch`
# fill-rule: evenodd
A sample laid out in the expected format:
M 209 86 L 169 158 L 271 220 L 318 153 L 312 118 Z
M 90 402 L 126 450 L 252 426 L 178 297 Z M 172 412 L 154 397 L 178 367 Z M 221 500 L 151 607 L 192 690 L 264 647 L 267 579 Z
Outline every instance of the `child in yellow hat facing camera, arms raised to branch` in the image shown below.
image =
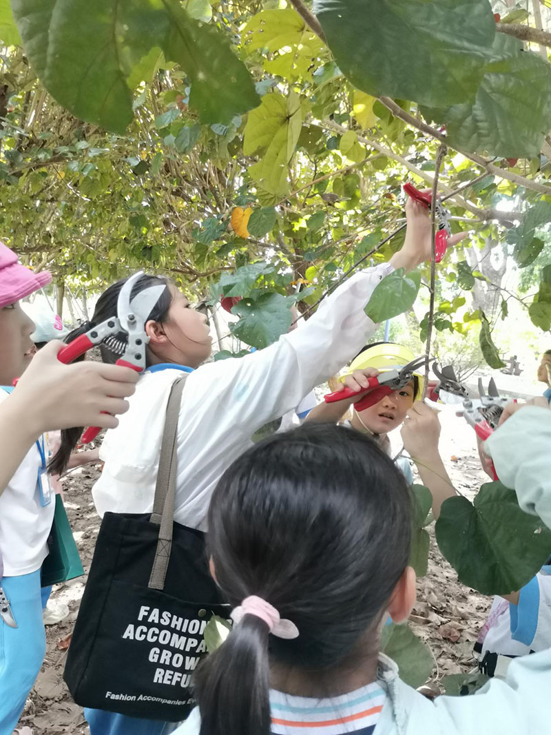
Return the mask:
M 379 371 L 403 367 L 414 358 L 414 354 L 402 345 L 384 342 L 367 345 L 350 364 L 343 387 L 346 385 L 352 390 L 361 390 L 367 386 L 367 378 L 378 375 Z M 431 489 L 433 512 L 435 517 L 438 517 L 442 503 L 446 498 L 455 495 L 455 490 L 438 451 L 439 419 L 436 413 L 421 401 L 423 383 L 422 373 L 415 373 L 407 385 L 389 393 L 377 404 L 362 411 L 357 411 L 354 404 L 364 397 L 364 393 L 333 404 L 323 403 L 309 413 L 306 422 L 338 421 L 352 406 L 352 419 L 345 420 L 343 422 L 345 426 L 350 426 L 361 434 L 370 435 L 387 454 L 391 453 L 388 434 L 402 424 L 404 449 L 417 465 L 423 483 Z M 412 484 L 413 475 L 408 460 L 400 457 L 396 464 L 402 470 L 408 484 Z

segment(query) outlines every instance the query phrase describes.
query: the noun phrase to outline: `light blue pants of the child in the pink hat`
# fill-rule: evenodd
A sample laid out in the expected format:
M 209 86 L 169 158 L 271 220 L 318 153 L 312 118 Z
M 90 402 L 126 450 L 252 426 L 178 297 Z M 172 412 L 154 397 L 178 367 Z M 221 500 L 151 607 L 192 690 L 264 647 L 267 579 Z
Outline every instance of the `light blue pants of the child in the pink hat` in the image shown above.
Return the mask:
M 12 733 L 46 653 L 40 569 L 1 583 L 17 628 L 0 619 L 0 733 Z

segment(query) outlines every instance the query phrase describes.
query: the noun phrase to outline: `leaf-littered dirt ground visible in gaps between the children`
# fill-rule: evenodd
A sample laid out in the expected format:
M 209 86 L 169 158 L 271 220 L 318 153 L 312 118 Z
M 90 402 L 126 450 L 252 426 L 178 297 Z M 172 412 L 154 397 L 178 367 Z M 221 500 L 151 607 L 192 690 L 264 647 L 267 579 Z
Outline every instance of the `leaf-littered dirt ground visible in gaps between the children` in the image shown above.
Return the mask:
M 400 448 L 399 436 L 393 437 Z M 475 451 L 474 432 L 463 420 L 442 419 L 440 449 L 453 483 L 473 497 L 485 481 Z M 65 506 L 87 571 L 92 558 L 100 520 L 91 497 L 98 467 L 73 470 L 63 481 Z M 442 558 L 431 531 L 431 559 L 427 576 L 417 582 L 417 603 L 411 616 L 414 631 L 430 646 L 436 665 L 433 679 L 443 675 L 468 673 L 475 668 L 472 645 L 486 618 L 491 600 L 457 581 L 457 575 Z M 71 634 L 86 577 L 58 585 L 52 598 L 67 603 L 68 620 L 46 627 L 46 659 L 26 703 L 19 728 L 31 728 L 32 735 L 87 734 L 82 708 L 71 700 L 62 680 L 65 664 L 63 639 Z M 30 735 L 29 731 L 22 733 Z

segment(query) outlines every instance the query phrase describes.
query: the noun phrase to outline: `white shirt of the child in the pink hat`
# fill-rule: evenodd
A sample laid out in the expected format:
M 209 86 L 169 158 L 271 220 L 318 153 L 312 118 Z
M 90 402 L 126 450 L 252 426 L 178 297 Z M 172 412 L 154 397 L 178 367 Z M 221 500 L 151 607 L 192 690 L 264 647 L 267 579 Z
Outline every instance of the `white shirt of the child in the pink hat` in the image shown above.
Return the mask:
M 8 395 L 0 390 L 0 402 Z M 47 443 L 45 448 L 48 456 Z M 46 542 L 54 523 L 55 503 L 51 501 L 44 507 L 40 504 L 37 481 L 41 467 L 40 452 L 33 442 L 0 495 L 0 554 L 6 577 L 36 572 L 48 556 Z

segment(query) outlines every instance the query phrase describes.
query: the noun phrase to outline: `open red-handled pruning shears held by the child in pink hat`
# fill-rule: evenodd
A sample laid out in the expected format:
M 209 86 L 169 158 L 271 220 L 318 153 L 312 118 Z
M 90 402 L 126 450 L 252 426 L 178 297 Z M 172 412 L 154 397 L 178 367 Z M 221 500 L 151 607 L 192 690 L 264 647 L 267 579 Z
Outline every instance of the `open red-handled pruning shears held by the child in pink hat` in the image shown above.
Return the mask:
M 145 321 L 166 286 L 150 286 L 137 293 L 131 301 L 132 288 L 142 275 L 142 270 L 134 273 L 120 289 L 117 316 L 106 319 L 63 347 L 57 354 L 60 362 L 73 362 L 90 348 L 103 343 L 112 352 L 120 355 L 115 365 L 132 368 L 137 373 L 145 370 L 145 345 L 149 342 L 149 337 L 145 334 Z M 87 444 L 93 441 L 99 431 L 97 426 L 91 426 L 82 434 L 81 442 Z

